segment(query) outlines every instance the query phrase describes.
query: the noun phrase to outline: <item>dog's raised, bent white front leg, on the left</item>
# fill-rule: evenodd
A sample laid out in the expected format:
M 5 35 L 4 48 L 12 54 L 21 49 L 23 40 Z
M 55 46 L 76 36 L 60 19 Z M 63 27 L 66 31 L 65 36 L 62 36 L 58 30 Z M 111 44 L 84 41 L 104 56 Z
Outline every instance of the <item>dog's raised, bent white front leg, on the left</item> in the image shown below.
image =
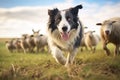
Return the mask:
M 58 47 L 52 46 L 52 55 L 58 63 L 65 65 L 66 58 L 63 56 L 62 51 Z

